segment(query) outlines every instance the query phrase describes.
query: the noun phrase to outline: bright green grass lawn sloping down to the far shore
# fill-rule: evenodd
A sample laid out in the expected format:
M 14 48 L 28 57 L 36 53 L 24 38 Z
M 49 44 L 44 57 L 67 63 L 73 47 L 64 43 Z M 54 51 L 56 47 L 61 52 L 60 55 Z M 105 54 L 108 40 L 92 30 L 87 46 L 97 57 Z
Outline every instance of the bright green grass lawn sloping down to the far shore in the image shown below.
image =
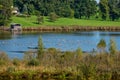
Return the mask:
M 84 20 L 74 18 L 59 18 L 55 22 L 49 22 L 47 17 L 44 18 L 43 24 L 36 24 L 36 16 L 27 18 L 12 17 L 12 23 L 20 23 L 23 27 L 38 27 L 38 26 L 120 26 L 120 21 L 100 21 L 100 20 Z

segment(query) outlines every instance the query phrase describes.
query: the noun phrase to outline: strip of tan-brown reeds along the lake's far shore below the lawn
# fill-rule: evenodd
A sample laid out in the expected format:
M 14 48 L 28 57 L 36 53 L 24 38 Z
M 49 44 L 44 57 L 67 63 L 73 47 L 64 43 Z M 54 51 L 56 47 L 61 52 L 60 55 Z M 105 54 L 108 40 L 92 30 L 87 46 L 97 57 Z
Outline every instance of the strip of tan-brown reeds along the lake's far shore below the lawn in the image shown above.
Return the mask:
M 10 31 L 9 27 L 1 27 L 0 31 Z M 32 32 L 72 32 L 72 31 L 120 31 L 119 26 L 41 26 L 41 27 L 24 27 L 22 31 Z

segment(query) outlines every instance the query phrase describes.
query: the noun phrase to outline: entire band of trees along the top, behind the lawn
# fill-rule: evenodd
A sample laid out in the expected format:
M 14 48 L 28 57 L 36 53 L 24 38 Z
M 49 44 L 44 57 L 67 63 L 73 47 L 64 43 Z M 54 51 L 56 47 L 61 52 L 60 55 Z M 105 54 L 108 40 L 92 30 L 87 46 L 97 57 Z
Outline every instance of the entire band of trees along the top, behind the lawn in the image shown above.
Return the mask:
M 1 0 L 0 15 L 7 9 L 9 13 L 5 12 L 4 16 L 10 14 L 10 6 L 18 7 L 20 13 L 27 15 L 39 12 L 42 16 L 48 16 L 54 12 L 60 17 L 79 19 L 94 17 L 112 21 L 120 17 L 120 0 L 100 0 L 99 3 L 96 0 Z

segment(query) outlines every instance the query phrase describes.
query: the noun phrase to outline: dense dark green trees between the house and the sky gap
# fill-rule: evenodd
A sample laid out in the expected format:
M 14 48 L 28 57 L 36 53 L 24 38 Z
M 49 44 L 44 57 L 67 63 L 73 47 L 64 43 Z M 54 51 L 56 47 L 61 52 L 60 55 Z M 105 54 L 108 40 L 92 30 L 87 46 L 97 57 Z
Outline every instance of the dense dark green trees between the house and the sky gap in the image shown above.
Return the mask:
M 97 3 L 95 0 L 14 0 L 14 6 L 29 15 L 37 10 L 44 16 L 54 12 L 60 17 L 90 18 L 96 13 Z

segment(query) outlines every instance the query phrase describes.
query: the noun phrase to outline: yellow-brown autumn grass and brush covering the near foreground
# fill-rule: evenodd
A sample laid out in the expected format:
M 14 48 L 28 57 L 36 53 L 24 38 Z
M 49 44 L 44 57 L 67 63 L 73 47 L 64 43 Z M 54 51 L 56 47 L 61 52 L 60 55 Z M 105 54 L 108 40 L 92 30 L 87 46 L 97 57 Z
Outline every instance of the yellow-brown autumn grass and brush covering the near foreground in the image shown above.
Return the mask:
M 27 58 L 20 60 L 19 65 L 13 64 L 13 60 L 1 64 L 0 80 L 120 80 L 120 52 L 114 55 L 106 52 L 83 54 L 78 49 L 61 53 L 49 48 L 37 66 L 28 65 L 31 57 L 34 58 L 31 55 L 34 54 L 26 54 Z

